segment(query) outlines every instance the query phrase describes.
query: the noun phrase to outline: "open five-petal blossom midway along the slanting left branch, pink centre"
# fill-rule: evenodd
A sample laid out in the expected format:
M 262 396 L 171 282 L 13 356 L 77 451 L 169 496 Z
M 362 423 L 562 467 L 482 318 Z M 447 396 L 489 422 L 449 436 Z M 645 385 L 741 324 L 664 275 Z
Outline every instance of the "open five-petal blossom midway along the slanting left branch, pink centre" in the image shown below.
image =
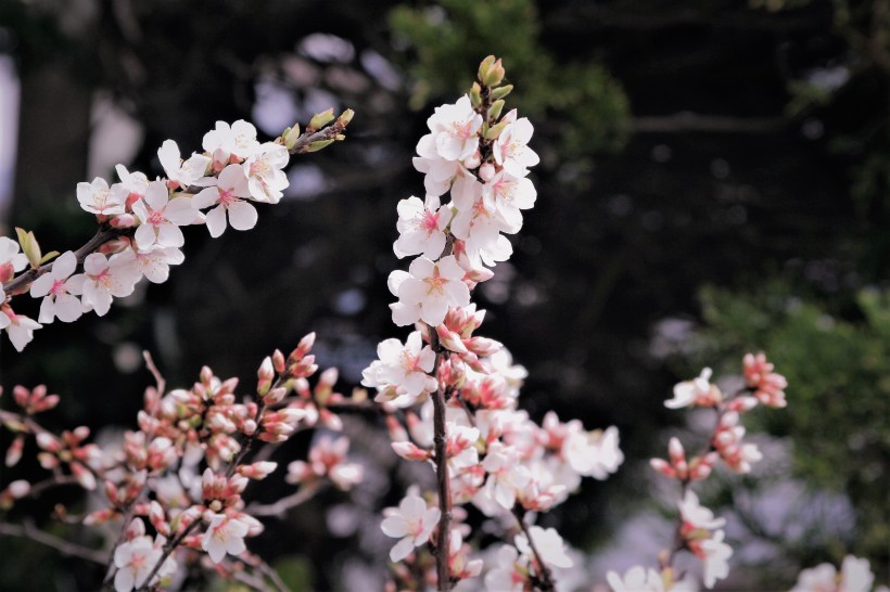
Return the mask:
M 179 227 L 191 224 L 201 217 L 190 197 L 170 200 L 163 181 L 149 183 L 144 200 L 136 202 L 132 210 L 141 222 L 136 229 L 136 244 L 143 250 L 181 247 L 186 240 Z

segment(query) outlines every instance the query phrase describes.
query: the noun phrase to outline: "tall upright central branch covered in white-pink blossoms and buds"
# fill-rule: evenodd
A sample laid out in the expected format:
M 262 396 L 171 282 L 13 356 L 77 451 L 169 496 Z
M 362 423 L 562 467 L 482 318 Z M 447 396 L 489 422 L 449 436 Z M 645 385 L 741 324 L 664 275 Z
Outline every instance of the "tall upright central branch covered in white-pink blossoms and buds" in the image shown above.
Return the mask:
M 503 551 L 511 557 L 504 566 L 516 569 L 493 569 L 485 578 L 492 589 L 508 579 L 519 589 L 530 587 L 547 581 L 550 567 L 571 565 L 558 532 L 529 528 L 523 516 L 550 510 L 582 477 L 605 479 L 623 461 L 614 427 L 587 432 L 581 422 L 561 423 L 555 413 L 538 425 L 519 410 L 524 369 L 512 364 L 501 344 L 474 335 L 485 311 L 471 304 L 471 291 L 494 275 L 492 266 L 510 257 L 506 235 L 520 230 L 522 210 L 536 197 L 527 177 L 538 163 L 529 147 L 532 124 L 514 110 L 503 114 L 512 88 L 501 86 L 504 75 L 500 61 L 488 57 L 471 93 L 436 107 L 428 120 L 430 132 L 417 144 L 414 160 L 424 173 L 425 196 L 398 203 L 399 236 L 393 245 L 399 258 L 416 258 L 408 271 L 389 278 L 398 298 L 390 305 L 393 322 L 415 331 L 405 343 L 383 340 L 363 379 L 377 389 L 376 400 L 389 414 L 395 452 L 429 462 L 437 473 L 432 507 L 411 493 L 386 511 L 382 529 L 399 539 L 391 559 L 407 561 L 415 571 L 425 565 L 415 548 L 436 549 L 440 587 L 482 569 L 462 542 L 469 525 L 450 523 L 453 510 L 462 504 L 522 527 Z M 398 579 L 399 571 L 394 574 Z M 403 578 L 396 585 L 411 584 Z

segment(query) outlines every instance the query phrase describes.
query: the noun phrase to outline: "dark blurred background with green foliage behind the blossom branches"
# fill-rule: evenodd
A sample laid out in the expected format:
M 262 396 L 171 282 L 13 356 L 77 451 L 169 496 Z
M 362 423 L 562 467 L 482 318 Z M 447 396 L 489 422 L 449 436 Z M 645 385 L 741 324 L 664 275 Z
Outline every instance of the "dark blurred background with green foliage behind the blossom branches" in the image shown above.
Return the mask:
M 752 413 L 766 456 L 754 474 L 701 491 L 736 551 L 717 589 L 787 589 L 847 553 L 887 583 L 887 0 L 3 0 L 0 230 L 34 230 L 44 250 L 94 231 L 77 182 L 112 179 L 117 163 L 153 177 L 165 139 L 188 154 L 216 120 L 274 138 L 329 106 L 356 112 L 346 142 L 293 158 L 285 198 L 253 231 L 187 229 L 167 283 L 49 325 L 22 355 L 4 339 L 3 387 L 48 384 L 63 396 L 47 420 L 60 428 L 131 428 L 152 383 L 141 350 L 171 386 L 207 364 L 250 390 L 265 356 L 316 331 L 321 366 L 348 392 L 380 339 L 404 338 L 386 276 L 404 267 L 395 205 L 423 191 L 411 156 L 425 119 L 491 53 L 542 164 L 516 254 L 475 296 L 483 333 L 529 369 L 520 401 L 533 417 L 614 424 L 627 456 L 543 518 L 588 557 L 578 589 L 653 565 L 670 543 L 676 492 L 647 460 L 671 435 L 698 448 L 708 428 L 664 409 L 672 386 L 710 365 L 733 389 L 742 355 L 760 350 L 788 377 L 789 407 Z M 379 453 L 379 417 L 346 427 L 368 482 L 250 543 L 296 590 L 378 589 L 390 542 L 376 516 L 417 478 Z M 300 458 L 309 437 L 276 460 Z M 25 464 L 0 482 L 39 474 Z M 52 503 L 23 509 L 39 518 Z M 97 574 L 0 540 L 0 589 L 84 590 Z

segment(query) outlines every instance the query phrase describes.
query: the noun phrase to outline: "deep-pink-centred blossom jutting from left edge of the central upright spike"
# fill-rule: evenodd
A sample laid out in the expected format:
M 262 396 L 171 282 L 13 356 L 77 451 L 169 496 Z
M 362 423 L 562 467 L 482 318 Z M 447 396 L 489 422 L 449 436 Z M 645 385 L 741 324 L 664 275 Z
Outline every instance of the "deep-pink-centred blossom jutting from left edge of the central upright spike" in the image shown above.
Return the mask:
M 411 196 L 398 202 L 398 240 L 393 250 L 400 259 L 408 255 L 423 255 L 428 259 L 438 259 L 445 249 L 445 229 L 452 220 L 452 210 L 440 207 L 438 197 L 427 197 L 424 204 Z

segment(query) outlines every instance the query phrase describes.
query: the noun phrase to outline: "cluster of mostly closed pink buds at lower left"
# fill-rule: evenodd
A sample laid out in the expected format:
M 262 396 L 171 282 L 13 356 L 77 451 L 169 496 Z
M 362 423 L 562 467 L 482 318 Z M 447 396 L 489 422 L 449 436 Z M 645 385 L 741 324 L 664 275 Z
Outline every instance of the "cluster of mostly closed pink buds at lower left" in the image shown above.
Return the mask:
M 18 462 L 25 437 L 34 435 L 38 460 L 53 476 L 10 484 L 0 492 L 0 506 L 8 510 L 16 500 L 58 485 L 100 489 L 104 504 L 80 522 L 98 526 L 123 520 L 110 571 L 116 592 L 164 585 L 201 565 L 202 556 L 220 574 L 246 569 L 258 561 L 244 542 L 264 529 L 256 516 L 283 513 L 308 499 L 301 489 L 272 507 L 246 503 L 250 484 L 278 467 L 266 460 L 270 447 L 298 430 L 338 429 L 342 422 L 334 409 L 349 402 L 333 391 L 335 372 L 321 373 L 310 388 L 308 378 L 318 369 L 310 353 L 314 340 L 314 334 L 307 335 L 290 356 L 276 350 L 266 358 L 257 371 L 255 399 L 239 397 L 238 379 L 221 381 L 208 368 L 191 388 L 165 392 L 163 378 L 151 366 L 158 385 L 145 390 L 138 429 L 124 434 L 119 449 L 87 442 L 86 427 L 52 434 L 34 415 L 52 409 L 58 396 L 47 395 L 43 386 L 16 387 L 13 398 L 22 412 L 0 411 L 3 425 L 16 433 L 7 464 Z M 345 436 L 320 438 L 308 463 L 291 463 L 287 480 L 301 488 L 312 480 L 312 492 L 323 484 L 348 490 L 363 476 L 360 465 L 347 462 L 348 443 Z M 257 449 L 253 459 L 252 449 Z

